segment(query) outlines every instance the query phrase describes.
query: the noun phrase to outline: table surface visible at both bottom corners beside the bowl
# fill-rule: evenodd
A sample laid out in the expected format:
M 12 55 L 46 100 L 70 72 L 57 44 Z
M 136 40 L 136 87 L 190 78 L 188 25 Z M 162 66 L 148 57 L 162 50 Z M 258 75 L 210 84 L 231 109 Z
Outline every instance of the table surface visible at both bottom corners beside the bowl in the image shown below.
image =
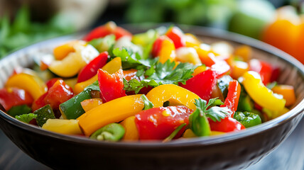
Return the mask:
M 0 169 L 50 169 L 24 154 L 0 130 Z M 304 118 L 278 148 L 246 170 L 304 170 Z

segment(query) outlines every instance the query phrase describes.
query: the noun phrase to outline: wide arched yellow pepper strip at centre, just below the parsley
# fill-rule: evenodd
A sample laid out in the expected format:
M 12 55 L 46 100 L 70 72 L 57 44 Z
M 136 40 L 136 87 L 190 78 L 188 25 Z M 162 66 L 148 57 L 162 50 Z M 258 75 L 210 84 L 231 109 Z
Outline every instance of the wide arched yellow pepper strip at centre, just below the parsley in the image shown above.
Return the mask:
M 153 103 L 154 108 L 161 107 L 165 101 L 169 101 L 170 103 L 174 103 L 174 105 L 179 103 L 179 105 L 187 106 L 193 110 L 196 109 L 194 104 L 195 99 L 200 98 L 191 91 L 175 84 L 157 86 L 149 91 L 146 96 Z

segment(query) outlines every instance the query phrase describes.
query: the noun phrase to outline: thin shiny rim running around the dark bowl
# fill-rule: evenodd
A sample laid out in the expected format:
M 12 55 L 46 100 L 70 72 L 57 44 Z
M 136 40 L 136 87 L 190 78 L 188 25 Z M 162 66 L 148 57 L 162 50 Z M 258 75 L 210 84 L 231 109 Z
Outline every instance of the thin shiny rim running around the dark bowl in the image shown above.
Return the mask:
M 246 37 L 244 35 L 239 35 L 237 33 L 230 33 L 226 30 L 219 30 L 216 28 L 205 28 L 202 26 L 185 26 L 185 25 L 178 25 L 176 26 L 180 27 L 182 30 L 186 30 L 187 33 L 195 33 L 195 35 L 200 36 L 208 36 L 212 38 L 219 38 L 221 40 L 229 40 L 232 42 L 237 42 L 239 44 L 249 45 L 250 47 L 254 47 L 257 50 L 261 50 L 263 52 L 267 52 L 271 55 L 275 55 L 276 57 L 280 58 L 281 60 L 284 60 L 284 62 L 287 62 L 291 66 L 298 69 L 298 72 L 300 72 L 301 76 L 304 77 L 304 66 L 301 64 L 298 60 L 295 60 L 295 58 L 291 57 L 291 55 L 288 55 L 286 52 L 283 52 L 281 50 L 278 50 L 276 47 L 273 47 L 271 45 L 266 44 L 265 42 L 261 42 L 259 40 L 255 40 L 253 38 Z M 136 26 L 136 27 L 135 27 Z M 141 25 L 142 26 L 142 25 Z M 169 23 L 165 24 L 157 24 L 153 25 L 154 28 L 157 28 L 159 26 L 170 26 Z M 134 24 L 126 24 L 123 26 L 124 28 L 140 28 L 140 25 L 134 25 Z M 145 26 L 143 26 L 144 28 Z M 148 28 L 152 28 L 151 26 L 148 26 Z M 87 32 L 87 31 L 86 31 Z M 14 55 L 17 55 L 18 53 L 26 52 L 28 50 L 31 50 L 32 48 L 41 47 L 42 45 L 46 45 L 48 43 L 52 42 L 61 42 L 62 40 L 67 40 L 69 38 L 75 38 L 75 37 L 81 37 L 84 35 L 83 33 L 77 33 L 72 35 L 65 35 L 63 37 L 59 38 L 52 38 L 50 40 L 44 40 L 42 42 L 38 42 L 33 45 L 29 45 L 28 47 L 25 47 L 21 50 L 17 50 L 16 52 L 12 52 L 9 55 L 6 55 L 3 59 L 0 60 L 6 60 L 8 57 L 13 57 Z M 304 79 L 304 78 L 303 78 Z M 77 142 L 82 145 L 94 145 L 94 146 L 103 146 L 103 147 L 116 147 L 116 148 L 129 148 L 129 149 L 161 149 L 163 147 L 166 148 L 175 148 L 175 147 L 197 147 L 197 146 L 207 146 L 207 145 L 215 145 L 222 142 L 231 142 L 233 140 L 238 140 L 242 137 L 249 137 L 251 135 L 256 135 L 257 133 L 264 132 L 267 130 L 270 130 L 271 128 L 275 128 L 281 124 L 287 123 L 291 119 L 295 118 L 297 115 L 302 114 L 304 111 L 304 98 L 298 103 L 297 106 L 291 109 L 291 111 L 288 111 L 288 113 L 285 113 L 284 115 L 279 116 L 278 118 L 275 118 L 273 120 L 269 120 L 266 123 L 262 123 L 261 125 L 256 125 L 251 128 L 247 128 L 246 130 L 241 130 L 239 132 L 229 132 L 224 135 L 216 135 L 211 137 L 195 137 L 195 138 L 188 138 L 185 140 L 173 140 L 171 142 L 161 142 L 156 140 L 151 141 L 136 141 L 136 142 L 100 142 L 97 140 L 90 140 L 87 137 L 82 136 L 75 136 L 75 135 L 63 135 L 56 132 L 50 132 L 48 130 L 43 130 L 38 126 L 35 125 L 28 125 L 27 123 L 23 123 L 19 120 L 16 120 L 15 118 L 11 117 L 10 115 L 7 115 L 3 111 L 0 110 L 0 118 L 3 118 L 5 121 L 10 123 L 11 125 L 14 125 L 18 128 L 21 128 L 23 130 L 27 130 L 33 133 L 37 133 L 39 135 L 47 135 L 48 137 L 54 137 L 58 140 L 66 140 L 68 142 Z

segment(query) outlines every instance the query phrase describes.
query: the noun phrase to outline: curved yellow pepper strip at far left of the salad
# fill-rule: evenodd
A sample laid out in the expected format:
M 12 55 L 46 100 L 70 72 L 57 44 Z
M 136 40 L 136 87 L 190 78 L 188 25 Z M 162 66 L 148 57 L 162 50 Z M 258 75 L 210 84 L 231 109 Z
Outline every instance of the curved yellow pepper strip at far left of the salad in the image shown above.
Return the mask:
M 13 74 L 6 81 L 5 87 L 18 87 L 19 89 L 24 89 L 31 94 L 31 96 L 36 100 L 41 95 L 48 91 L 48 87 L 45 85 L 42 79 L 40 79 L 35 74 Z

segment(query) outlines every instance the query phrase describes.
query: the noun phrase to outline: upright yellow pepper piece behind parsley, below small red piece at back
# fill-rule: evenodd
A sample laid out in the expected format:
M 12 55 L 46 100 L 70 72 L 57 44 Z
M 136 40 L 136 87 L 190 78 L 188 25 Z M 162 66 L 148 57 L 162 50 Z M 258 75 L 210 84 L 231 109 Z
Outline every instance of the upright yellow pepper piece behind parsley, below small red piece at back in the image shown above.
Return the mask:
M 159 62 L 165 63 L 167 60 L 173 62 L 175 60 L 175 46 L 172 40 L 165 38 L 161 43 L 161 51 L 159 52 Z

